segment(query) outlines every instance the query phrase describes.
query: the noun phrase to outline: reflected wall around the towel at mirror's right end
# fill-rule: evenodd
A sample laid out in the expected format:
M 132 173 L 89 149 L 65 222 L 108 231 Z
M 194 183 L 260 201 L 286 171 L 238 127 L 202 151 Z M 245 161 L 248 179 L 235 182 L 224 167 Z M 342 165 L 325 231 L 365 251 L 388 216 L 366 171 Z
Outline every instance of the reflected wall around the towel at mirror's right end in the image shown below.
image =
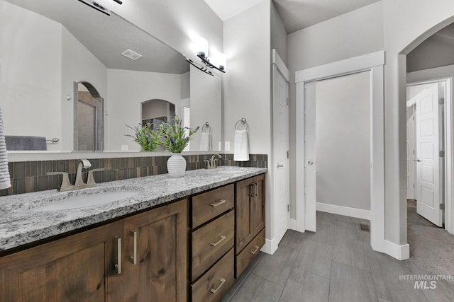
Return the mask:
M 207 76 L 191 66 L 191 127 L 200 127 L 191 140 L 191 151 L 200 150 L 201 128 L 208 122 L 211 127 L 213 151 L 219 150 L 222 135 L 222 79 Z M 222 146 L 221 146 L 222 147 Z

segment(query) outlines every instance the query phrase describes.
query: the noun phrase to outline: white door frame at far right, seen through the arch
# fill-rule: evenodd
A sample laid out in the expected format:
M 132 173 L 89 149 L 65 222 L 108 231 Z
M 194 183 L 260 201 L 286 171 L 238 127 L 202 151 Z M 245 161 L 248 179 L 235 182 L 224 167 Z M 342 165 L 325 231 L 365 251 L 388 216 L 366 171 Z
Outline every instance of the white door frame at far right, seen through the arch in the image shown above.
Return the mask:
M 443 69 L 443 67 L 441 67 Z M 434 69 L 435 70 L 435 69 Z M 445 151 L 445 161 L 444 161 L 444 185 L 443 191 L 445 194 L 445 230 L 448 233 L 454 234 L 454 161 L 453 148 L 454 148 L 454 106 L 452 104 L 453 100 L 453 77 L 452 76 L 441 76 L 437 78 L 433 75 L 433 79 L 422 79 L 426 76 L 416 76 L 419 71 L 415 71 L 413 76 L 410 74 L 407 75 L 406 87 L 417 86 L 430 83 L 445 83 L 445 102 L 443 109 L 445 112 L 444 123 L 443 123 L 443 139 L 444 139 L 444 151 Z M 416 169 L 415 169 L 416 173 Z

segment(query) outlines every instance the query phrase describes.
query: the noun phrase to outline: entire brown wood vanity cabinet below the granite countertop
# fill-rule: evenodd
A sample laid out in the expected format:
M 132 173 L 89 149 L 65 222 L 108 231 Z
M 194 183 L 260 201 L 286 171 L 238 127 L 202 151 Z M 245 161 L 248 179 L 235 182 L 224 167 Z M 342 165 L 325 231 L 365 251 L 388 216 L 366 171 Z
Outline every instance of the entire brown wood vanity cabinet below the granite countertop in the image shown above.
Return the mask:
M 262 174 L 0 257 L 0 301 L 221 301 L 264 244 Z

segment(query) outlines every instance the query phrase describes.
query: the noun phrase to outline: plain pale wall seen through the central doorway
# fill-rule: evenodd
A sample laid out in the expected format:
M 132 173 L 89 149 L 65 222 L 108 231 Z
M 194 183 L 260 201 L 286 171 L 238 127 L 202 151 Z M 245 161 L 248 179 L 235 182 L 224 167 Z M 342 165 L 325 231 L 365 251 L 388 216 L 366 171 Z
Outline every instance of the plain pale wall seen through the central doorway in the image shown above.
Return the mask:
M 370 211 L 370 72 L 316 82 L 316 202 Z

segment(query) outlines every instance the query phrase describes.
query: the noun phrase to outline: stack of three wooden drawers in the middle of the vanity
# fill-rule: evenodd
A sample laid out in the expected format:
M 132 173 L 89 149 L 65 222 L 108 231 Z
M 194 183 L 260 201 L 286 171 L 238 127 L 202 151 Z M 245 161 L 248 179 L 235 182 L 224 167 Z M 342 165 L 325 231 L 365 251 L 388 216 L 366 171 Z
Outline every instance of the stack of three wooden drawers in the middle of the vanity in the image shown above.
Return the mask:
M 191 201 L 192 302 L 221 301 L 235 282 L 235 185 L 194 195 Z

